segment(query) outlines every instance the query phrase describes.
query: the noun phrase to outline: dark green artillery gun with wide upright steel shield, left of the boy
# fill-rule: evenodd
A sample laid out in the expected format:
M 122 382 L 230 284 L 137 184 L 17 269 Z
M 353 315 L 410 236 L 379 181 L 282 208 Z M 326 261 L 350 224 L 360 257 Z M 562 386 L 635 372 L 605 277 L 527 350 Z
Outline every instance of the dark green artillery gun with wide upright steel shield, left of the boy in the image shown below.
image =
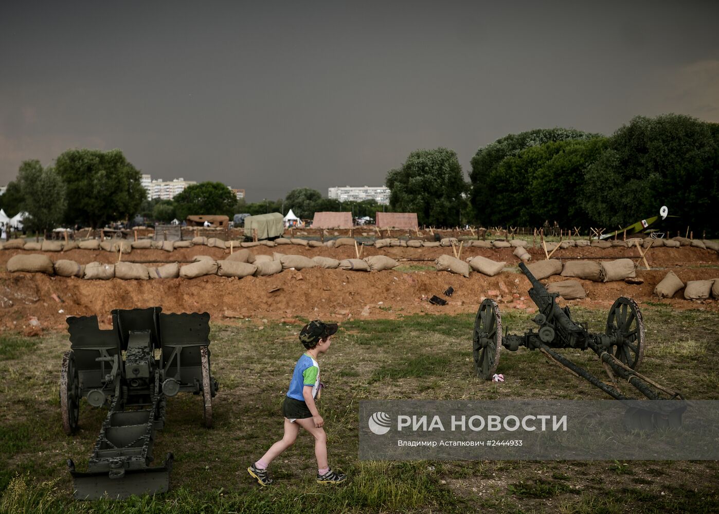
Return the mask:
M 78 500 L 126 498 L 165 492 L 173 454 L 150 467 L 155 431 L 165 425 L 166 399 L 202 395 L 204 422 L 212 426 L 218 385 L 210 374 L 208 313 L 162 313 L 162 308 L 112 311 L 110 330 L 97 316 L 68 318 L 71 349 L 63 356 L 60 408 L 68 435 L 78 428 L 80 402 L 109 405 L 88 460 L 88 472 L 68 468 Z

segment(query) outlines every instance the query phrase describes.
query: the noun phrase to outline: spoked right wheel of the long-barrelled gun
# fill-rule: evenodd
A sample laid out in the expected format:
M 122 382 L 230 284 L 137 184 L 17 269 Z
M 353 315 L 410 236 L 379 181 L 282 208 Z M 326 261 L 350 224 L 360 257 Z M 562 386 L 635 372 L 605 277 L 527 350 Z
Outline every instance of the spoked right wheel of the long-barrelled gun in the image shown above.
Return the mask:
M 619 334 L 624 339 L 614 349 L 614 357 L 638 370 L 644 359 L 644 321 L 636 302 L 631 298 L 617 298 L 609 310 L 607 335 Z

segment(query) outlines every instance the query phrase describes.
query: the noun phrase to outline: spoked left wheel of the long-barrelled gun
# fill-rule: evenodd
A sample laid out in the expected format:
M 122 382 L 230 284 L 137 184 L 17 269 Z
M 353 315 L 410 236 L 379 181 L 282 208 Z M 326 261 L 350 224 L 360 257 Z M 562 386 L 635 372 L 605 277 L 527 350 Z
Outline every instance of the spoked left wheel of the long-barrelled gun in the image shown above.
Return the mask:
M 477 311 L 472 349 L 477 375 L 485 380 L 492 380 L 502 349 L 502 316 L 495 300 L 487 298 Z

